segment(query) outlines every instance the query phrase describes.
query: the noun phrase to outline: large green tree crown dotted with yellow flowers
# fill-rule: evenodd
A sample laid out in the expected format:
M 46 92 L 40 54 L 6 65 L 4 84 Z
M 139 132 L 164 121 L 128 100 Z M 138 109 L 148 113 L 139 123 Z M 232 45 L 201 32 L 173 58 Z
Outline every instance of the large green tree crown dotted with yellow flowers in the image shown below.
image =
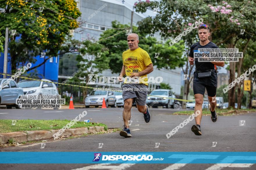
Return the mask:
M 39 7 L 44 7 L 42 12 Z M 9 34 L 13 71 L 19 63 L 35 63 L 34 56 L 44 50 L 49 57 L 57 56 L 69 30 L 78 27 L 76 19 L 81 15 L 74 0 L 0 0 L 0 8 L 4 10 L 0 13 L 1 36 L 5 35 L 6 27 L 16 30 L 15 36 Z M 19 40 L 15 41 L 16 37 L 20 37 Z M 1 43 L 2 40 L 0 38 Z

